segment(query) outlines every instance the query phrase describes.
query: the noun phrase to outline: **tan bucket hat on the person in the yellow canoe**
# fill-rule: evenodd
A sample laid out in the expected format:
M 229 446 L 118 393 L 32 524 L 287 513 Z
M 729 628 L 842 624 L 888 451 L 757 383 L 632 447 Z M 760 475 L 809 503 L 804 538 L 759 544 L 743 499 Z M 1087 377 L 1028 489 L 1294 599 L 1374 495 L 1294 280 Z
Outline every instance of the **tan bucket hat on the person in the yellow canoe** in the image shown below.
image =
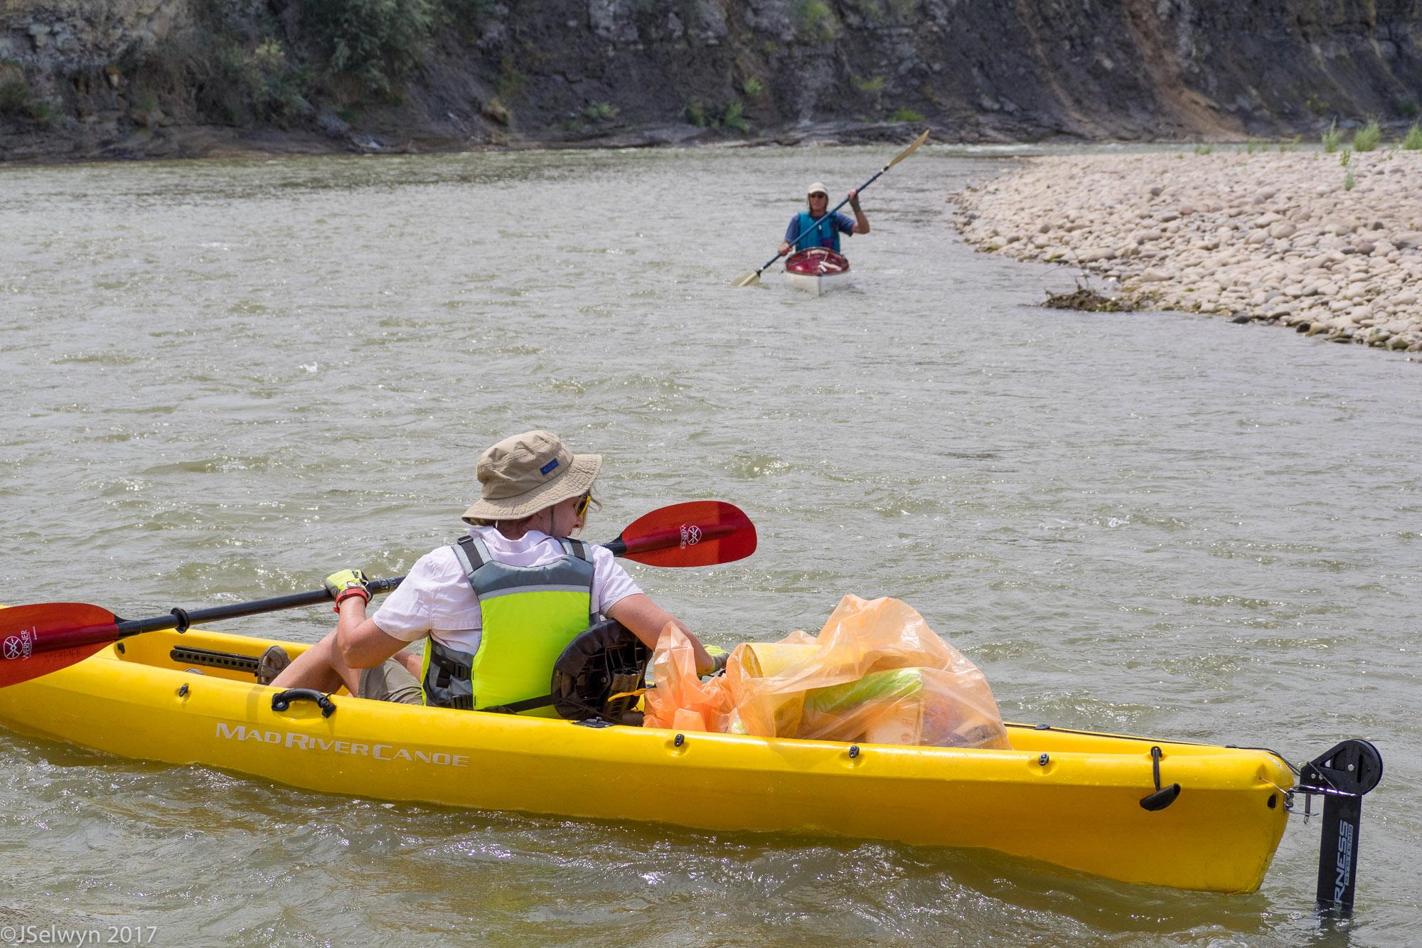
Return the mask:
M 479 455 L 479 500 L 464 520 L 522 520 L 586 494 L 602 467 L 602 454 L 573 454 L 552 431 L 503 438 Z

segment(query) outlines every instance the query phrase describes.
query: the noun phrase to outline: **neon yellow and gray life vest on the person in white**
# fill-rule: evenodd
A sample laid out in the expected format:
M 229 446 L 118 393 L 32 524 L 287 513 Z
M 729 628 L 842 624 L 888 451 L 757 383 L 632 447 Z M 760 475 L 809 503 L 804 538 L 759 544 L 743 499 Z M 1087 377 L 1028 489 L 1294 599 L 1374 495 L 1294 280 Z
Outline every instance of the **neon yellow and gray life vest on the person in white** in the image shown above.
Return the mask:
M 474 655 L 434 638 L 425 645 L 425 705 L 464 710 L 526 710 L 509 705 L 547 696 L 553 663 L 593 623 L 593 555 L 587 544 L 559 539 L 565 555 L 542 567 L 509 567 L 483 539 L 452 545 L 479 598 L 483 632 Z M 550 700 L 526 710 L 557 717 Z

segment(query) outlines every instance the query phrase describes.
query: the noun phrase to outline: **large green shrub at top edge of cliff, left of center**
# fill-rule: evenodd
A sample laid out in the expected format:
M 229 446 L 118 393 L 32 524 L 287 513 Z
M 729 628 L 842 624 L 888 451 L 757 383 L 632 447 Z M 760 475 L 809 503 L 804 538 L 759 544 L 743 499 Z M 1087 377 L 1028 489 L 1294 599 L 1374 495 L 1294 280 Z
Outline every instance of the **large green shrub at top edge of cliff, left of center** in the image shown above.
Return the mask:
M 429 50 L 435 0 L 300 0 L 301 23 L 331 73 L 392 97 Z

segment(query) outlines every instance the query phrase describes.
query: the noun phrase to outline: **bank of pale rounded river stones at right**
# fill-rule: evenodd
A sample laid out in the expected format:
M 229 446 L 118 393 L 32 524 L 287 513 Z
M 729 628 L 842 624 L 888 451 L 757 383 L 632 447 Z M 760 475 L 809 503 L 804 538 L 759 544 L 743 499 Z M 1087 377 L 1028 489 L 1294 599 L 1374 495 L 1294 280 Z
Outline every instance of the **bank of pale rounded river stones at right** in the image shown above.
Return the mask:
M 954 201 L 978 249 L 1101 275 L 1158 309 L 1419 353 L 1418 181 L 1422 151 L 1200 148 L 1032 158 Z

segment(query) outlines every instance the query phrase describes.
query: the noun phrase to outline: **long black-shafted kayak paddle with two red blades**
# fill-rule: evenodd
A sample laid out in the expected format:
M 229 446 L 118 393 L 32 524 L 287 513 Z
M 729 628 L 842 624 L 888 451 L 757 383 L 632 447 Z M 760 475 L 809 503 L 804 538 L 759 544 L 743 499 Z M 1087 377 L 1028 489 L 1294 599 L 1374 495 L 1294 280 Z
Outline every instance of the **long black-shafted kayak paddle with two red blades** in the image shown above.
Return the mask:
M 755 552 L 755 524 L 734 504 L 673 504 L 631 522 L 603 544 L 613 555 L 650 567 L 712 567 Z M 390 592 L 404 576 L 371 579 L 371 594 Z M 178 629 L 219 619 L 330 602 L 326 589 L 235 602 L 208 609 L 173 609 L 146 619 L 121 619 L 84 602 L 41 602 L 0 609 L 0 688 L 40 678 L 82 662 L 105 645 L 142 632 Z

